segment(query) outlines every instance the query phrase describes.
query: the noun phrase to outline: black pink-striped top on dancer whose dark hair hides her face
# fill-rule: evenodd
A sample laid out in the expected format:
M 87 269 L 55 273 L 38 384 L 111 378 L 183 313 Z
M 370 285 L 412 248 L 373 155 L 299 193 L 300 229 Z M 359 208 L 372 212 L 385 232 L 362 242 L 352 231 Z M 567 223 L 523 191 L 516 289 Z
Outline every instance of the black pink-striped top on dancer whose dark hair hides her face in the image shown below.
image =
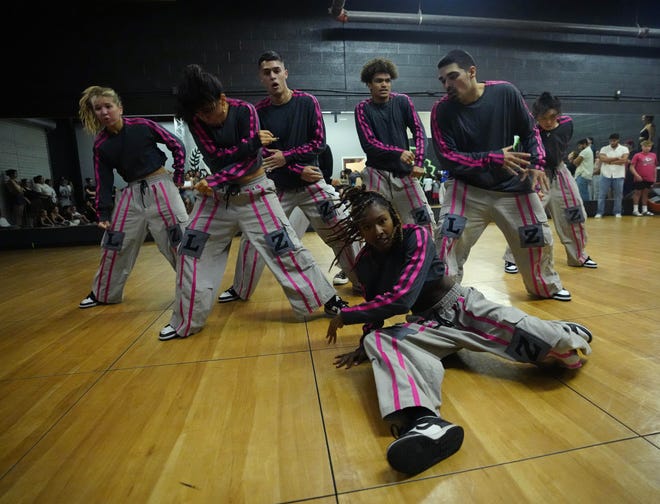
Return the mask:
M 227 98 L 227 118 L 220 126 L 209 126 L 194 117 L 188 127 L 211 175 L 209 187 L 231 183 L 261 166 L 259 117 L 251 103 Z

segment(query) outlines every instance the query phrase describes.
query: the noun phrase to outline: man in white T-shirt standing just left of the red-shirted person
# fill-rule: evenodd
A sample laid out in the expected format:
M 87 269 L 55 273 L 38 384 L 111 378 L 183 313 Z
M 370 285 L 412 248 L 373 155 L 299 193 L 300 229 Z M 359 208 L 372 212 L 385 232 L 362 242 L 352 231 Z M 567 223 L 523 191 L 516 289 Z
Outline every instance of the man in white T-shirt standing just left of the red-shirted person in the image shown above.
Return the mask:
M 610 135 L 609 145 L 601 147 L 598 157 L 600 165 L 600 191 L 598 194 L 598 208 L 596 219 L 605 213 L 605 199 L 612 188 L 614 205 L 612 211 L 615 217 L 621 217 L 623 203 L 623 181 L 626 176 L 626 161 L 628 160 L 628 147 L 619 144 L 619 134 Z

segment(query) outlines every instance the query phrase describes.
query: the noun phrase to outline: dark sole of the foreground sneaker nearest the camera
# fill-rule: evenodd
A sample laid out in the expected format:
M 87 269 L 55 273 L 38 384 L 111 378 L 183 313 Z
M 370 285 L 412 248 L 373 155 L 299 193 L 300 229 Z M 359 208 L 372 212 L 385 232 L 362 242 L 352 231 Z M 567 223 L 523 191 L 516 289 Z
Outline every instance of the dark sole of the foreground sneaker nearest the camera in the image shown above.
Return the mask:
M 463 437 L 463 427 L 452 425 L 437 441 L 422 434 L 401 438 L 387 450 L 387 461 L 401 473 L 418 474 L 456 453 Z

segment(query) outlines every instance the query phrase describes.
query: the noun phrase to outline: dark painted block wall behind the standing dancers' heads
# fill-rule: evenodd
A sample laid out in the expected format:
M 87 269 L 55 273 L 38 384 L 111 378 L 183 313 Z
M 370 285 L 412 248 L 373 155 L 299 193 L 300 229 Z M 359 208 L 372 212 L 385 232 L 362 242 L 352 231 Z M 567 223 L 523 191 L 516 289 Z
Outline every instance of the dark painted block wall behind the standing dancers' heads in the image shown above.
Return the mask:
M 94 83 L 116 88 L 127 114 L 172 114 L 172 88 L 193 62 L 219 73 L 228 94 L 256 101 L 263 95 L 256 59 L 271 48 L 285 56 L 290 85 L 314 92 L 326 111 L 352 111 L 366 96 L 359 73 L 374 56 L 394 60 L 395 89 L 430 110 L 441 96 L 437 61 L 462 47 L 476 58 L 480 80 L 509 80 L 530 103 L 545 90 L 564 97 L 575 139 L 594 136 L 604 145 L 613 131 L 636 139 L 641 114 L 660 118 L 660 39 L 342 24 L 328 14 L 329 2 L 227 3 L 9 7 L 7 23 L 22 31 L 2 34 L 11 50 L 0 117 L 75 118 L 80 92 Z

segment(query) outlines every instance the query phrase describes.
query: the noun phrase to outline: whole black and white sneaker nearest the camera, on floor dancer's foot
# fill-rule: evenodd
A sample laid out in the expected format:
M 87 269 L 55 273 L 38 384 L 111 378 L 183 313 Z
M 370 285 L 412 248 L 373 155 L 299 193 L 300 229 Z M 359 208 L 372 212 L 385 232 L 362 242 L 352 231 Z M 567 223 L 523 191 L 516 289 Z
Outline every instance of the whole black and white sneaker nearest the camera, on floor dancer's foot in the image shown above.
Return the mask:
M 387 461 L 399 472 L 420 473 L 456 453 L 463 435 L 459 425 L 440 417 L 422 417 L 387 448 Z

